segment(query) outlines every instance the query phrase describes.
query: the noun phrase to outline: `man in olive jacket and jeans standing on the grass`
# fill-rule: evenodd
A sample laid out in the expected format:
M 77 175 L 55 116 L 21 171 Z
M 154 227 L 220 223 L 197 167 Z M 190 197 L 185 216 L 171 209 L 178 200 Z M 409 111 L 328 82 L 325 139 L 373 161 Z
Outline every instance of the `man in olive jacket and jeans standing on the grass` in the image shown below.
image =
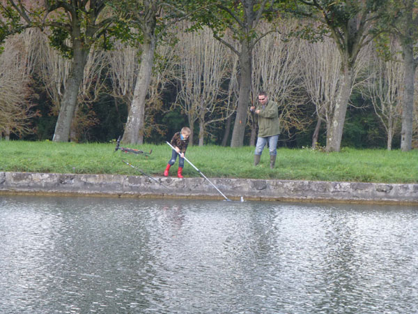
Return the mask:
M 258 137 L 256 144 L 256 151 L 254 152 L 254 165 L 258 165 L 261 158 L 261 153 L 268 144 L 270 151 L 270 169 L 274 168 L 277 156 L 277 140 L 280 134 L 279 110 L 277 103 L 268 100 L 265 91 L 258 94 L 258 105 L 251 106 L 251 112 L 257 116 L 258 123 Z

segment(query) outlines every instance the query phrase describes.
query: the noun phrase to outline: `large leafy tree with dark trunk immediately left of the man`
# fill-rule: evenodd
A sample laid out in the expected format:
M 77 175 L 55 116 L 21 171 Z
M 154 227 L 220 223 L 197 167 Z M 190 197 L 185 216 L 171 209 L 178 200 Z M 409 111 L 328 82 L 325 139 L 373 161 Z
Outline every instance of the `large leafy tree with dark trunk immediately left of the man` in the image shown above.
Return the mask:
M 266 35 L 266 33 L 258 33 L 256 28 L 261 20 L 270 20 L 272 14 L 277 12 L 279 1 L 201 0 L 194 2 L 195 6 L 208 5 L 208 8 L 192 15 L 192 20 L 196 22 L 195 27 L 199 28 L 202 25 L 210 27 L 213 36 L 229 47 L 239 58 L 240 91 L 231 147 L 241 147 L 244 142 L 251 91 L 252 53 L 258 40 Z M 271 31 L 275 31 L 274 24 L 268 32 Z M 225 36 L 226 33 L 231 33 L 231 36 Z

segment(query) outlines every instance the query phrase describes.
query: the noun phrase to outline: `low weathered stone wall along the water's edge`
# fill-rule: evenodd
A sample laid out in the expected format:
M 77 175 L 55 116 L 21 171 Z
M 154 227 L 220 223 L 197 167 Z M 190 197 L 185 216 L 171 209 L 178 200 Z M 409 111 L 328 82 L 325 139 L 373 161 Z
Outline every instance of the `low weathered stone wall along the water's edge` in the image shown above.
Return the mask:
M 155 179 L 155 181 L 153 180 Z M 417 204 L 418 184 L 0 172 L 0 193 Z

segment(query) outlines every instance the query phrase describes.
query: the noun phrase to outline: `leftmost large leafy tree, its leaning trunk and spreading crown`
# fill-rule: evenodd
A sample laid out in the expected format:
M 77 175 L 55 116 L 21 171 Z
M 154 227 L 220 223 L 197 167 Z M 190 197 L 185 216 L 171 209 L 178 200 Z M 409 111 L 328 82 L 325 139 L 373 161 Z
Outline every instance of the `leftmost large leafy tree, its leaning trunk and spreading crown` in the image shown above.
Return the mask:
M 68 142 L 77 97 L 91 47 L 109 47 L 114 16 L 105 11 L 107 0 L 64 1 L 45 0 L 43 6 L 30 1 L 5 0 L 8 13 L 22 17 L 29 27 L 49 28 L 50 43 L 71 60 L 68 82 L 61 100 L 54 142 Z

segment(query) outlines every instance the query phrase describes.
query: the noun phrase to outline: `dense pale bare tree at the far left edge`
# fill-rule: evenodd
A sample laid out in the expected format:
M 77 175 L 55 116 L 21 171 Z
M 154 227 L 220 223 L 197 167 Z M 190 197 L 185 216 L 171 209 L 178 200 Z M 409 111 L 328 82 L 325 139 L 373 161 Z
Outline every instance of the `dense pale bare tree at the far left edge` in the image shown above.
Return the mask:
M 30 119 L 36 117 L 33 111 L 30 88 L 33 70 L 33 31 L 6 39 L 0 54 L 0 137 L 6 140 L 10 134 L 33 133 Z

